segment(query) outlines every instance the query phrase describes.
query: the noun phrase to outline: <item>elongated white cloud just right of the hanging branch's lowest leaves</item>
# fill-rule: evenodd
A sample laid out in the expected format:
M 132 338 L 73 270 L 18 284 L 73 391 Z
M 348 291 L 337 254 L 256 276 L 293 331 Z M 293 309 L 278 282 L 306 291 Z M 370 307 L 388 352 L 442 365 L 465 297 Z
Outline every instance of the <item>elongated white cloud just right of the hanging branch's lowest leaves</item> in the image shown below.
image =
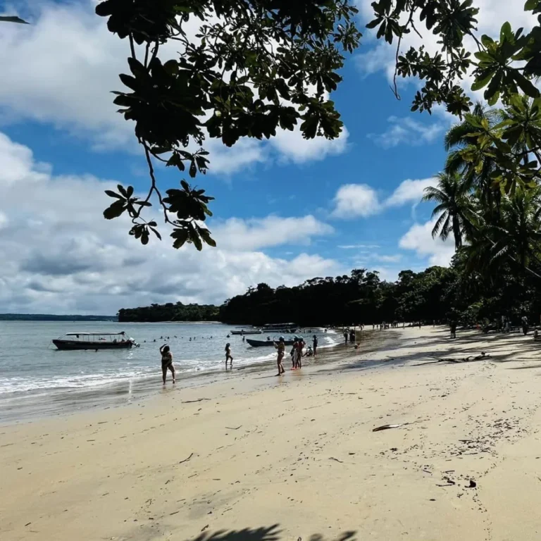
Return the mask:
M 230 218 L 213 226 L 220 248 L 256 250 L 280 244 L 310 244 L 315 235 L 330 235 L 333 228 L 313 216 L 303 218 Z

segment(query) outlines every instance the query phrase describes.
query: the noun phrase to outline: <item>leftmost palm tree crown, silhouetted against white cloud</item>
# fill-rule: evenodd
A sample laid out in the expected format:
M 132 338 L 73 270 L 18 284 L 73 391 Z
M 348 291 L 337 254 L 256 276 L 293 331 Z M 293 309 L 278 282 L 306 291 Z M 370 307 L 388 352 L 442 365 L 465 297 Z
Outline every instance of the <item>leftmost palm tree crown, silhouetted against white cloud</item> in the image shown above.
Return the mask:
M 425 188 L 423 201 L 435 201 L 437 206 L 432 217 L 438 216 L 432 236 L 440 235 L 442 240 L 453 233 L 454 247 L 462 246 L 462 237 L 470 233 L 471 189 L 459 173 L 439 173 L 437 187 Z

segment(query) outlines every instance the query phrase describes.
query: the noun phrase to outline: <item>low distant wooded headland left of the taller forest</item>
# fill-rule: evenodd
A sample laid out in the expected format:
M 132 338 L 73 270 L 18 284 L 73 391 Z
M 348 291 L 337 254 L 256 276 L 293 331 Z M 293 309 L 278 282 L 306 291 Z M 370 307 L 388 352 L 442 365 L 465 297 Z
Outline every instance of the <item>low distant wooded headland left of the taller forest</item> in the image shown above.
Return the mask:
M 139 308 L 122 308 L 118 321 L 218 321 L 218 306 L 211 304 L 151 304 Z

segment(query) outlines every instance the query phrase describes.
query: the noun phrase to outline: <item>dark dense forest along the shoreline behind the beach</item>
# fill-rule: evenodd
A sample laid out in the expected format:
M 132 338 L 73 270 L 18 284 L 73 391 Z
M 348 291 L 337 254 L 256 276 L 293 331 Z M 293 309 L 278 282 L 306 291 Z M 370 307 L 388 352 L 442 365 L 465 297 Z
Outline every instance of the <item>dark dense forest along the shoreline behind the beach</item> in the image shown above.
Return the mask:
M 262 325 L 294 321 L 299 325 L 370 325 L 382 321 L 423 321 L 463 325 L 489 323 L 499 316 L 518 323 L 523 314 L 539 321 L 541 294 L 535 277 L 518 276 L 502 264 L 486 280 L 470 268 L 466 248 L 457 251 L 449 268 L 430 267 L 421 273 L 403 270 L 396 282 L 380 280 L 377 272 L 352 270 L 347 276 L 312 278 L 295 287 L 276 289 L 261 283 L 218 308 L 153 304 L 122 309 L 119 321 L 223 321 Z

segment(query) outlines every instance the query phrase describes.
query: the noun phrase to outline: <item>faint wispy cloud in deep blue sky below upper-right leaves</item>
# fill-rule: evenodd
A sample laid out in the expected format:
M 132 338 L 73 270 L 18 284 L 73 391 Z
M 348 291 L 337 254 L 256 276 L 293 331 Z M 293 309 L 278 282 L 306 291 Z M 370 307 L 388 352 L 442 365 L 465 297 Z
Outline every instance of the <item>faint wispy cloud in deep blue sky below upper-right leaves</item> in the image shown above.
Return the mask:
M 430 117 L 433 118 L 433 117 Z M 391 126 L 383 133 L 369 133 L 366 137 L 372 139 L 384 149 L 397 147 L 399 144 L 409 144 L 417 147 L 422 144 L 430 144 L 442 135 L 446 124 L 430 120 L 430 123 L 421 123 L 413 118 L 397 118 L 390 116 L 387 119 Z

